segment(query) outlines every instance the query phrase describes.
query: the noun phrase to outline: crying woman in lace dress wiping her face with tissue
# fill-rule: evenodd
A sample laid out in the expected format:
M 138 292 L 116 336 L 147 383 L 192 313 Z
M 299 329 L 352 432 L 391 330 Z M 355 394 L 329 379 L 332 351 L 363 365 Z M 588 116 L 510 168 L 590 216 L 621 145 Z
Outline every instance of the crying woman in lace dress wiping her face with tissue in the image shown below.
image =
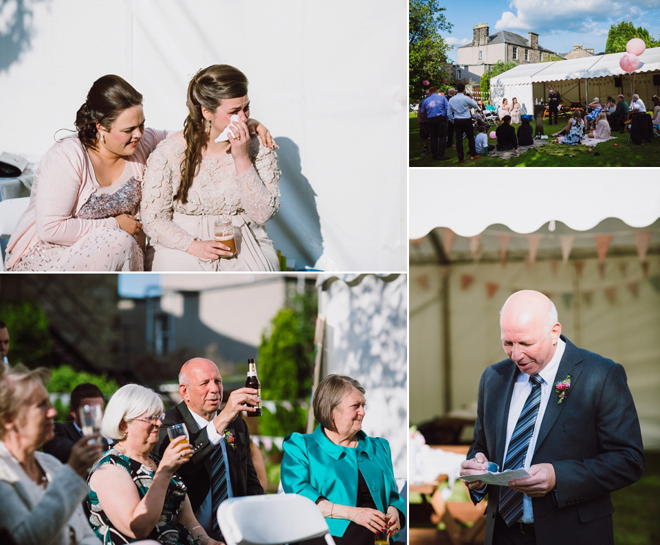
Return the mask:
M 157 146 L 144 174 L 151 270 L 278 270 L 264 223 L 279 208 L 280 170 L 274 151 L 248 132 L 247 78 L 229 65 L 203 69 L 188 85 L 187 104 L 184 130 Z M 214 240 L 218 220 L 234 227 L 235 255 Z

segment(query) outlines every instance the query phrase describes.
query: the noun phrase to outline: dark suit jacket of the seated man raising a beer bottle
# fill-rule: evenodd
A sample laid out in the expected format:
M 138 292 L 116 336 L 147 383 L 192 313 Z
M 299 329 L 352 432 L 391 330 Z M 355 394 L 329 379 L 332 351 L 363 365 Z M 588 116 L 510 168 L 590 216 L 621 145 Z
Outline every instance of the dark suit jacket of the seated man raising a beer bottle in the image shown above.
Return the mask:
M 170 440 L 167 436 L 167 426 L 185 423 L 190 434 L 190 443 L 195 452 L 190 461 L 177 469 L 177 475 L 188 487 L 188 498 L 192 504 L 192 511 L 197 511 L 208 496 L 211 487 L 211 453 L 215 447 L 208 440 L 206 427 L 201 431 L 197 422 L 192 418 L 190 409 L 185 401 L 165 411 L 165 419 L 160 430 L 158 443 L 154 452 L 163 455 Z M 227 444 L 227 459 L 229 462 L 229 476 L 234 496 L 256 496 L 263 494 L 263 488 L 256 476 L 256 469 L 250 454 L 250 434 L 248 425 L 239 416 L 228 425 L 227 430 L 234 435 L 233 449 Z M 220 448 L 218 445 L 217 448 Z

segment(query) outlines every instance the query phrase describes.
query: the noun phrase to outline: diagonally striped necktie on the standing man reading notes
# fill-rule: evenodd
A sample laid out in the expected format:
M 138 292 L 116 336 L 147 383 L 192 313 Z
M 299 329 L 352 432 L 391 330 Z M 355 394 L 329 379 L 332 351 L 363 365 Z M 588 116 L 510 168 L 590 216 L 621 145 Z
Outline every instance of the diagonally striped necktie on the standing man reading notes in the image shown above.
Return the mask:
M 514 427 L 514 433 L 511 434 L 507 458 L 504 462 L 502 471 L 509 469 L 520 469 L 525 465 L 525 456 L 529 448 L 529 441 L 534 433 L 536 424 L 536 414 L 541 404 L 541 379 L 538 375 L 530 375 L 531 392 L 527 396 L 527 401 L 520 411 L 518 422 Z M 506 521 L 507 526 L 511 526 L 522 516 L 522 492 L 515 491 L 509 487 L 500 487 L 500 515 Z

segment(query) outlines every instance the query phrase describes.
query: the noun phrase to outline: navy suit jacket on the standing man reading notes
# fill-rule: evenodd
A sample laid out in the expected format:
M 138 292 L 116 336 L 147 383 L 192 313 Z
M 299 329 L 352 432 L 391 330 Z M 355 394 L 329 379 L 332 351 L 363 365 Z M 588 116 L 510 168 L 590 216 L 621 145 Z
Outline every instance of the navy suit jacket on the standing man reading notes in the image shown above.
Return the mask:
M 558 403 L 553 383 L 531 459 L 531 465 L 551 463 L 556 478 L 555 491 L 532 498 L 536 543 L 613 545 L 610 492 L 639 480 L 644 469 L 637 411 L 623 366 L 561 338 L 566 349 L 555 383 L 571 375 L 571 386 Z M 468 459 L 483 452 L 503 467 L 516 372 L 505 359 L 481 375 Z M 499 489 L 487 487 L 486 545 L 493 540 Z

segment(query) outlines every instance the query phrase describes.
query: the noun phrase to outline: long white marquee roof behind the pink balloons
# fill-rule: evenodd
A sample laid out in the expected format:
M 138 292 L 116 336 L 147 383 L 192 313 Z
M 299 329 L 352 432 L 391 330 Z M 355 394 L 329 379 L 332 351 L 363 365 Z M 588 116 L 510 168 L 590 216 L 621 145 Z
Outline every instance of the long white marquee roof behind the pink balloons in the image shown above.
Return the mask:
M 619 66 L 624 53 L 555 60 L 552 63 L 520 65 L 494 78 L 492 85 L 517 85 L 546 81 L 576 80 L 582 78 L 606 78 L 628 74 Z M 640 66 L 631 74 L 660 70 L 660 47 L 646 49 L 639 56 Z

